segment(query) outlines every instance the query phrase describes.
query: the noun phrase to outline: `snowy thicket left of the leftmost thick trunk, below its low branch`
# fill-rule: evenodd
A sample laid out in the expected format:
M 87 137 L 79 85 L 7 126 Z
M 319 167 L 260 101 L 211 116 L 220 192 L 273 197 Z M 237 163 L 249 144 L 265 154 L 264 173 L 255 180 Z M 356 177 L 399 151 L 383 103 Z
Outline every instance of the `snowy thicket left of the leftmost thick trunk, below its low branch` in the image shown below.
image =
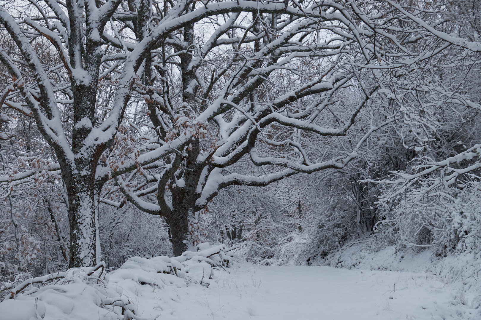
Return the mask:
M 38 276 L 66 267 L 68 259 L 68 219 L 62 183 L 48 171 L 49 161 L 21 157 L 10 168 L 45 168 L 33 181 L 13 188 L 0 188 L 0 279 L 13 279 L 20 273 Z

